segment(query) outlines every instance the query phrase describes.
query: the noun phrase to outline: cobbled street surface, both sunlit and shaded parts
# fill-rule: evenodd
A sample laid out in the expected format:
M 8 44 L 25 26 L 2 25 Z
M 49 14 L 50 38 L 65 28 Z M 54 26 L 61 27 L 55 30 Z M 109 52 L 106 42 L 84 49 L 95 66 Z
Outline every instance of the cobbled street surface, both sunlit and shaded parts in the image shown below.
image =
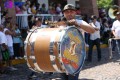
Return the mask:
M 102 49 L 102 60 L 97 61 L 96 51 L 93 53 L 93 61 L 85 62 L 80 73 L 80 80 L 120 80 L 119 55 L 114 53 L 113 59 L 109 59 L 108 48 Z M 59 74 L 42 74 L 36 73 L 37 77 L 30 79 L 28 76 L 31 70 L 26 64 L 15 66 L 17 71 L 7 71 L 6 74 L 0 75 L 0 80 L 64 80 Z

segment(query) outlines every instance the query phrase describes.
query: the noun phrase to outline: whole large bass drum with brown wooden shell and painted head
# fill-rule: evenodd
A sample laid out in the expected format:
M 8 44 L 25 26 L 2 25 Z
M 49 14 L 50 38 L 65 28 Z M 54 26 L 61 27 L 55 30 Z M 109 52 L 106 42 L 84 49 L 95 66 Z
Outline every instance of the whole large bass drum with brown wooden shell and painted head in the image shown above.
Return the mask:
M 27 64 L 37 72 L 74 75 L 82 68 L 85 52 L 83 36 L 75 27 L 37 28 L 25 40 Z

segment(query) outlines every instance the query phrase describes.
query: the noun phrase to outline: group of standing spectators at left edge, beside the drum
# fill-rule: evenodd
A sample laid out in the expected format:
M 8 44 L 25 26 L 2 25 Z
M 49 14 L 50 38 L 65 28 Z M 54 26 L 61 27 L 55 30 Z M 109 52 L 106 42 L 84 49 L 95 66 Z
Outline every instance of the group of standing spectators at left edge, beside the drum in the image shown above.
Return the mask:
M 13 59 L 23 59 L 23 38 L 18 24 L 12 24 L 12 17 L 5 12 L 2 17 L 2 24 L 0 24 L 0 61 L 2 72 L 6 69 L 4 65 L 10 70 L 17 70 L 12 65 Z M 4 69 L 3 69 L 4 68 Z M 2 73 L 0 72 L 0 73 Z

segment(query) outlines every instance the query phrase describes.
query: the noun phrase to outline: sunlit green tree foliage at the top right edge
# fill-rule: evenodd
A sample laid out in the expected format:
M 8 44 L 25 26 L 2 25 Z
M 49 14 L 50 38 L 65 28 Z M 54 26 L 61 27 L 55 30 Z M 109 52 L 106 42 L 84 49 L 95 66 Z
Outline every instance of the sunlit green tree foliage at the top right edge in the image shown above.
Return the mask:
M 99 8 L 109 8 L 113 4 L 113 0 L 97 0 Z

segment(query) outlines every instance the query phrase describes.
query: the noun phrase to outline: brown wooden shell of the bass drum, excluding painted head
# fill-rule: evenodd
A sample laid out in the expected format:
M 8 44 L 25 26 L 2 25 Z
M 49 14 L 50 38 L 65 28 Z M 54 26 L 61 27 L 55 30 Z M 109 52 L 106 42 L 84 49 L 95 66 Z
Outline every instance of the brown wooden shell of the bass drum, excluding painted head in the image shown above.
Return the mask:
M 30 45 L 26 44 L 26 49 L 25 49 L 26 55 L 27 55 L 27 63 L 28 63 L 28 66 L 32 70 L 36 70 L 36 71 L 41 70 L 44 72 L 56 72 L 56 70 L 53 68 L 53 65 L 52 65 L 51 60 L 50 60 L 50 51 L 49 50 L 50 50 L 50 40 L 53 36 L 55 36 L 54 42 L 59 41 L 60 35 L 54 34 L 54 32 L 57 33 L 57 32 L 59 32 L 59 30 L 61 30 L 61 29 L 43 28 L 43 29 L 38 29 L 36 31 L 37 33 L 35 33 L 35 32 L 33 33 L 34 35 L 37 35 L 35 41 L 33 42 L 34 45 L 30 46 Z M 30 34 L 28 35 L 29 37 L 30 37 Z M 31 37 L 29 38 L 30 42 L 32 42 L 34 35 L 31 35 Z M 31 56 L 30 48 L 31 47 L 34 47 L 34 54 L 33 55 L 35 57 L 35 62 L 33 59 L 30 58 L 30 56 Z M 57 47 L 58 47 L 57 45 L 53 45 L 53 53 L 56 57 L 58 57 Z M 40 68 L 39 70 L 36 68 L 35 63 L 37 63 L 38 67 Z M 55 64 L 57 65 L 58 69 L 60 69 L 60 72 L 64 72 L 58 58 L 55 58 Z

